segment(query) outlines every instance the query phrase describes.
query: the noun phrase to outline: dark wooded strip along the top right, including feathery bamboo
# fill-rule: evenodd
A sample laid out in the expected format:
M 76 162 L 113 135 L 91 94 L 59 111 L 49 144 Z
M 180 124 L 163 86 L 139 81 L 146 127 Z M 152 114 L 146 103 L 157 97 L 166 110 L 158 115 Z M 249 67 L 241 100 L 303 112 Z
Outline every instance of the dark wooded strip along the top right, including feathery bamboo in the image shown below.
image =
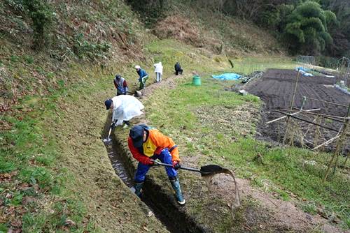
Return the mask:
M 339 58 L 350 54 L 350 2 L 346 0 L 128 0 L 128 2 L 139 11 L 141 19 L 151 28 L 164 20 L 167 15 L 179 17 L 183 13 L 188 13 L 193 17 L 191 22 L 204 22 L 203 26 L 206 29 L 216 24 L 216 29 L 219 29 L 213 31 L 216 34 L 225 31 L 221 36 L 224 36 L 226 44 L 231 43 L 228 39 L 239 38 L 241 33 L 244 38 L 244 45 L 240 45 L 241 48 L 256 47 L 256 40 L 253 40 L 252 44 L 249 43 L 252 40 L 245 39 L 244 30 L 238 33 L 236 31 L 233 33 L 234 37 L 230 37 L 232 35 L 230 31 L 237 27 L 228 27 L 228 24 L 223 23 L 221 15 L 225 15 L 225 19 L 231 22 L 232 18 L 236 23 L 237 20 L 244 20 L 244 24 L 246 21 L 253 22 L 255 26 L 269 31 L 290 54 L 319 56 L 318 62 L 321 65 L 328 61 L 328 58 L 323 56 Z M 204 13 L 204 17 L 199 17 L 205 11 L 215 14 Z M 215 20 L 208 20 L 212 19 L 209 15 L 214 15 Z M 260 40 L 268 38 L 269 36 L 260 36 Z M 273 51 L 276 49 L 279 47 L 273 47 Z

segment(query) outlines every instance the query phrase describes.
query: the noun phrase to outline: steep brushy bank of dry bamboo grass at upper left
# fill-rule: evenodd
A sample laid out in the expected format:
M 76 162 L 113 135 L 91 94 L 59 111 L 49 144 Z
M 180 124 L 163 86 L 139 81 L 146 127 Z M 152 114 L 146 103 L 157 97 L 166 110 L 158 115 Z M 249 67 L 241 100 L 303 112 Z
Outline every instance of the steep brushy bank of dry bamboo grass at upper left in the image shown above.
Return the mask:
M 148 35 L 124 1 L 50 1 L 55 15 L 41 50 L 31 48 L 34 26 L 24 9 L 22 1 L 0 2 L 1 102 L 78 82 L 62 75 L 71 63 L 117 68 L 143 58 Z

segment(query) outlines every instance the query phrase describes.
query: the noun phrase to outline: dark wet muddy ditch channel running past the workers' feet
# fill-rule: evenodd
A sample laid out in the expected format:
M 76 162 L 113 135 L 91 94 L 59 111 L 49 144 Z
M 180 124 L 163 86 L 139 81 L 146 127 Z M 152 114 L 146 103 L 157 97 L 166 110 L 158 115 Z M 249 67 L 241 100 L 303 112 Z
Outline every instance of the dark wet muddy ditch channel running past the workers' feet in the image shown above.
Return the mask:
M 102 139 L 107 137 L 110 125 L 111 119 L 109 117 L 104 126 Z M 132 188 L 134 185 L 132 177 L 135 171 L 132 162 L 121 152 L 123 150 L 120 148 L 120 144 L 116 141 L 113 133 L 111 137 L 111 142 L 109 142 L 109 144 L 105 143 L 105 146 L 109 158 L 111 159 L 112 166 L 120 179 L 134 192 Z M 144 193 L 141 197 L 141 201 L 153 211 L 155 217 L 165 225 L 169 232 L 210 232 L 210 230 L 198 225 L 192 216 L 188 216 L 185 211 L 186 206 L 179 206 L 174 202 L 174 199 L 169 196 L 169 193 L 151 179 L 146 179 L 143 190 Z

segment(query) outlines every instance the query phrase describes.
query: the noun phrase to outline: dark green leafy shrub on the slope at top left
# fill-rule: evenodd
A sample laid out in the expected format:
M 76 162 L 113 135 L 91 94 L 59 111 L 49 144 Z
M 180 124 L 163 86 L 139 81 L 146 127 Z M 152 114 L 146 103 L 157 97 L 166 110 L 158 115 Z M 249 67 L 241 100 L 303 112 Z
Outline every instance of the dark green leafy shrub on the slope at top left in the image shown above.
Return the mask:
M 50 27 L 54 20 L 54 12 L 47 1 L 23 0 L 34 29 L 34 48 L 42 49 L 50 41 Z

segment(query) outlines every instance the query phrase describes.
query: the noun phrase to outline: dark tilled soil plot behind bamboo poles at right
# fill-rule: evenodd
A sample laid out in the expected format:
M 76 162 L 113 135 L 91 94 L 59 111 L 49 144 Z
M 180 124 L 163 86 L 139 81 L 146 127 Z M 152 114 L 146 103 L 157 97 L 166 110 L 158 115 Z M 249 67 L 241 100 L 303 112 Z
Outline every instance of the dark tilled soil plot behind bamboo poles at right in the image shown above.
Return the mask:
M 287 109 L 290 106 L 290 100 L 291 96 L 293 95 L 296 77 L 297 71 L 295 70 L 270 69 L 267 70 L 262 78 L 255 80 L 244 87 L 246 91 L 255 96 L 259 96 L 265 102 L 265 106 L 262 110 L 262 121 L 260 121 L 260 126 L 258 126 L 258 131 L 260 132 L 260 137 L 262 137 L 262 139 L 277 142 L 281 142 L 281 140 L 283 140 L 282 137 L 285 132 L 286 121 L 276 121 L 275 123 L 270 123 L 269 125 L 266 125 L 266 122 L 283 116 L 278 112 L 273 112 L 273 110 Z M 293 106 L 298 108 L 301 107 L 302 96 L 339 103 L 342 105 L 349 105 L 350 96 L 332 87 L 335 82 L 336 79 L 332 77 L 300 76 Z M 330 105 L 328 103 L 322 103 L 316 100 L 308 99 L 304 104 L 304 110 L 311 110 L 315 108 L 321 108 L 321 110 L 318 111 L 320 113 L 339 117 L 344 117 L 347 112 L 347 107 Z M 315 117 L 311 115 L 298 114 L 297 117 L 307 119 L 309 121 L 315 121 Z M 318 123 L 320 122 L 322 125 L 334 128 L 335 130 L 339 130 L 339 128 L 342 126 L 341 122 L 332 121 L 330 119 L 322 119 L 321 121 L 318 121 Z M 296 135 L 300 136 L 300 138 L 304 138 L 304 140 L 295 138 L 294 140 L 296 144 L 306 144 L 312 147 L 316 133 L 316 126 L 312 126 L 311 124 L 302 121 L 293 121 L 293 130 L 295 131 Z M 319 130 L 320 137 L 318 140 L 316 140 L 315 144 L 321 144 L 325 140 L 329 140 L 331 137 L 334 137 L 337 134 L 335 131 L 330 131 L 324 128 L 320 128 Z M 347 142 L 346 145 L 346 151 L 349 151 L 349 142 Z M 334 143 L 327 146 L 325 150 L 330 150 L 333 147 Z

